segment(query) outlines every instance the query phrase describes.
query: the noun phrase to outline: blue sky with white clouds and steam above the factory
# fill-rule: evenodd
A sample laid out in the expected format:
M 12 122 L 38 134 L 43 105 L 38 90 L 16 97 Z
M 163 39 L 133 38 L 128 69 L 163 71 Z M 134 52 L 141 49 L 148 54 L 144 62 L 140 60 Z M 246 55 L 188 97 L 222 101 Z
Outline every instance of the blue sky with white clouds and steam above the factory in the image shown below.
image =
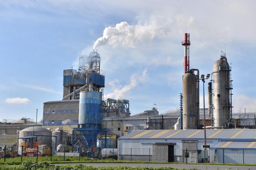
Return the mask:
M 233 110 L 255 112 L 255 8 L 253 0 L 0 1 L 0 119 L 35 119 L 36 109 L 42 119 L 43 102 L 62 99 L 63 70 L 77 68 L 95 42 L 105 97 L 130 100 L 132 114 L 154 103 L 160 113 L 175 111 L 186 30 L 191 67 L 201 74 L 226 44 Z

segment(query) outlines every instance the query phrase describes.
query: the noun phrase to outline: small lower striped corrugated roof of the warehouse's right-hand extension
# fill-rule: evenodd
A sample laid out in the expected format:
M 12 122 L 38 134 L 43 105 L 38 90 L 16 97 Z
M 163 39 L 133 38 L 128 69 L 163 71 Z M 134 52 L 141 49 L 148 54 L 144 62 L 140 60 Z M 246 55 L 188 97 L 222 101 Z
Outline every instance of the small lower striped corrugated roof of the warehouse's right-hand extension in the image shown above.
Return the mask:
M 211 149 L 256 149 L 256 142 L 252 141 L 220 141 Z

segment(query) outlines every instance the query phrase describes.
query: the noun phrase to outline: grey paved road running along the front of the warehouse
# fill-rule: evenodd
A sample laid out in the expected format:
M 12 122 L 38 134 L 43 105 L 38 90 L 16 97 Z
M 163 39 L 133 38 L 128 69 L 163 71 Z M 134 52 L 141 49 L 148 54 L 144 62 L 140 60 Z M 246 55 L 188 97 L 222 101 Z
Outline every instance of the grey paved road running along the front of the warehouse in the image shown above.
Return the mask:
M 256 166 L 230 166 L 230 165 L 204 165 L 204 164 L 139 164 L 139 163 L 65 163 L 55 165 L 76 165 L 82 164 L 93 167 L 175 167 L 175 168 L 196 168 L 200 170 L 256 170 Z M 231 169 L 232 168 L 232 169 Z

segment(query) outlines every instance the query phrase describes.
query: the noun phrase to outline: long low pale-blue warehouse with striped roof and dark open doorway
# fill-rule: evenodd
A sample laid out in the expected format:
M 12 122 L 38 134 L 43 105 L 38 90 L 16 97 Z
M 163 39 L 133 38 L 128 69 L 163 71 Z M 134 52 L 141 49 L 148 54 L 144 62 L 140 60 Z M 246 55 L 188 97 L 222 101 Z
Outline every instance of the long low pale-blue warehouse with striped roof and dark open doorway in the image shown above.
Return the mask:
M 210 148 L 204 157 L 204 130 L 136 130 L 118 139 L 118 158 L 256 164 L 256 159 L 247 159 L 256 153 L 256 130 L 210 129 L 206 136 Z

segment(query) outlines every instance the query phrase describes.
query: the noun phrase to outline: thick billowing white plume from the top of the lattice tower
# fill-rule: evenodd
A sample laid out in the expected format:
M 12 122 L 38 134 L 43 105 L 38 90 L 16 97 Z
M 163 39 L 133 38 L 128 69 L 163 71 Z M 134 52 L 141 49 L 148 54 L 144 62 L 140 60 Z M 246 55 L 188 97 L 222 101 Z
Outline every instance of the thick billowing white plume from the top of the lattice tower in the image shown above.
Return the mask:
M 154 17 L 148 23 L 138 23 L 135 26 L 131 26 L 127 22 L 121 22 L 116 24 L 115 27 L 105 28 L 103 36 L 96 40 L 93 49 L 105 44 L 114 47 L 121 44 L 123 47 L 135 48 L 138 42 L 142 40 L 153 40 L 157 35 L 165 35 L 168 32 L 169 26 L 157 23 L 157 19 Z

